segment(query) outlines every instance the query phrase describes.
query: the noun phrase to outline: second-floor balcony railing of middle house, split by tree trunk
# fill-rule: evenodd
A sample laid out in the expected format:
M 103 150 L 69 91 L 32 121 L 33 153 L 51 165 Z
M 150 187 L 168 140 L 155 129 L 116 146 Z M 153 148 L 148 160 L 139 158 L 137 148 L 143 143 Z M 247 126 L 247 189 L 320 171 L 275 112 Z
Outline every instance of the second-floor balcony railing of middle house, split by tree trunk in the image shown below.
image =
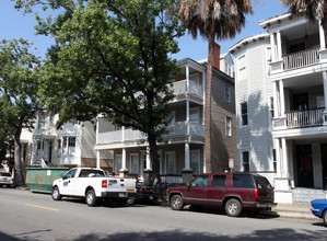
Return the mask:
M 168 134 L 164 137 L 174 137 L 174 136 L 198 136 L 205 137 L 205 126 L 197 123 L 189 123 L 187 125 L 186 122 L 177 122 L 170 126 L 167 126 Z M 145 140 L 147 135 L 139 130 L 133 129 L 121 129 L 121 130 L 114 130 L 114 131 L 106 131 L 100 133 L 97 136 L 97 144 L 117 144 L 117 142 L 125 142 L 125 141 L 137 141 L 137 140 Z

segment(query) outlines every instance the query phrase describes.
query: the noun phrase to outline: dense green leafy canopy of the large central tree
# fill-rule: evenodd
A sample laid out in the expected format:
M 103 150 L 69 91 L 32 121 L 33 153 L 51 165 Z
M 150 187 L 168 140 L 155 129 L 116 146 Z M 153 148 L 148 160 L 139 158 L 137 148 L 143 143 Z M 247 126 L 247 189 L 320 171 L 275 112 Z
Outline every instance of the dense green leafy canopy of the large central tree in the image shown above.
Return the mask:
M 184 32 L 172 1 L 90 0 L 16 1 L 17 7 L 43 4 L 57 10 L 43 20 L 39 34 L 56 37 L 42 68 L 40 95 L 60 110 L 58 127 L 98 114 L 118 125 L 160 137 L 168 123 L 166 103 L 173 94 L 170 74 L 178 67 L 168 55 Z

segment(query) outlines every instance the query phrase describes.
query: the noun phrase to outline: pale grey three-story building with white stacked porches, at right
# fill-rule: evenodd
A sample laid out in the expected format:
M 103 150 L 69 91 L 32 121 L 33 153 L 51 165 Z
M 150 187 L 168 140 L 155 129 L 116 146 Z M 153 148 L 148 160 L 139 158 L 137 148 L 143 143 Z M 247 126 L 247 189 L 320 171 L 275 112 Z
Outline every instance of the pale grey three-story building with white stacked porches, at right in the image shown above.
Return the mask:
M 301 187 L 319 188 L 325 196 L 326 24 L 290 13 L 259 24 L 266 33 L 230 48 L 240 170 L 267 175 L 280 203 L 300 200 Z

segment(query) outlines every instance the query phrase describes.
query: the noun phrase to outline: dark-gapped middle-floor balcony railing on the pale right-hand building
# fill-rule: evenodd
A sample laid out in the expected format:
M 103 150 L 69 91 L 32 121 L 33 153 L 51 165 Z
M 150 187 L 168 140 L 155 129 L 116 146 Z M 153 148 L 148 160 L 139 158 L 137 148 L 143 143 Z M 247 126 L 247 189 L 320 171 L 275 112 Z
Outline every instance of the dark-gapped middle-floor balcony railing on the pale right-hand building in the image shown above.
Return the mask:
M 324 110 L 325 108 L 313 108 L 306 111 L 292 111 L 287 113 L 288 128 L 322 126 L 324 123 Z

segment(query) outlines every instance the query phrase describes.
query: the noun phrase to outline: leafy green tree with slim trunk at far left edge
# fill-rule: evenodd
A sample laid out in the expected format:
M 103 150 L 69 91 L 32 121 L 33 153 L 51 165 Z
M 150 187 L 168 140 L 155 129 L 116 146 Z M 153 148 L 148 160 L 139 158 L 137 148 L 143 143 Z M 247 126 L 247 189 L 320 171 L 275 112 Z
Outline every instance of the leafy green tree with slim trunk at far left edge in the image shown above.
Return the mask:
M 37 97 L 36 70 L 39 59 L 31 54 L 32 45 L 23 39 L 2 39 L 0 43 L 0 149 L 8 154 L 14 141 L 20 153 L 23 128 L 33 127 L 33 118 L 40 110 Z M 16 181 L 24 183 L 20 156 L 15 154 Z M 19 168 L 17 168 L 19 167 Z

